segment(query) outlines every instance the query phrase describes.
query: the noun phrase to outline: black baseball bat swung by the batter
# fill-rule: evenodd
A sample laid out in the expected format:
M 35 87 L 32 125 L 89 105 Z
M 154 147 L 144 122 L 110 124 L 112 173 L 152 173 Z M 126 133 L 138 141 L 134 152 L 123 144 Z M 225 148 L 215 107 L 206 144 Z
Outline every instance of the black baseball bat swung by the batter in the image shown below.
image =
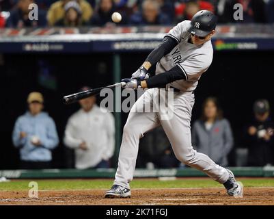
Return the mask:
M 63 103 L 68 105 L 71 103 L 75 103 L 81 99 L 85 99 L 89 96 L 95 95 L 100 93 L 100 91 L 104 88 L 115 88 L 116 86 L 124 86 L 125 82 L 120 82 L 120 83 L 114 83 L 111 84 L 109 86 L 105 86 L 105 87 L 101 87 L 101 88 L 94 88 L 94 89 L 90 89 L 90 90 L 85 90 L 85 91 L 81 91 L 81 92 L 77 92 L 75 94 L 70 94 L 67 96 L 63 97 Z

